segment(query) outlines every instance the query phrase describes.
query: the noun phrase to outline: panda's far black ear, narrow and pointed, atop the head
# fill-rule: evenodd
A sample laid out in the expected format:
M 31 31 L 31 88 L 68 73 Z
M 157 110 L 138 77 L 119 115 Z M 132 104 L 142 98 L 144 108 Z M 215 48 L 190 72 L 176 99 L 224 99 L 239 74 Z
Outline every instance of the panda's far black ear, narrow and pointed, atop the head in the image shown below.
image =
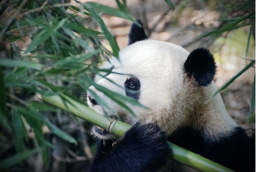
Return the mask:
M 131 45 L 140 40 L 148 39 L 146 36 L 146 33 L 143 29 L 142 21 L 140 19 L 138 19 L 137 22 L 142 26 L 138 26 L 134 23 L 132 24 L 131 30 L 129 32 L 129 44 L 128 45 Z

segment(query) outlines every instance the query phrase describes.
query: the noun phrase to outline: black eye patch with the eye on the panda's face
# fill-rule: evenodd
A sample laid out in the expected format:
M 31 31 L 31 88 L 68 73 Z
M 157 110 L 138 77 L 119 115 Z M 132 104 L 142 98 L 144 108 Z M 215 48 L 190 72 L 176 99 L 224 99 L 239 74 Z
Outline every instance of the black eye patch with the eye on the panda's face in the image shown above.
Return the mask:
M 140 81 L 138 78 L 132 77 L 127 79 L 124 83 L 124 86 L 125 86 L 125 94 L 128 97 L 139 100 Z

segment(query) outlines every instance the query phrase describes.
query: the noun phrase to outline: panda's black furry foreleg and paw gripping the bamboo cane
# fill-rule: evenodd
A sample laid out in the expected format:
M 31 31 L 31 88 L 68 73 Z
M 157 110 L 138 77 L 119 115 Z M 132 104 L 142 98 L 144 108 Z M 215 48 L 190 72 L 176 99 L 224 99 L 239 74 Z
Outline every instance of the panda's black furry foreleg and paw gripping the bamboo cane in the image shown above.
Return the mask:
M 170 153 L 165 133 L 153 124 L 136 123 L 114 146 L 113 141 L 103 142 L 99 142 L 90 171 L 156 171 Z

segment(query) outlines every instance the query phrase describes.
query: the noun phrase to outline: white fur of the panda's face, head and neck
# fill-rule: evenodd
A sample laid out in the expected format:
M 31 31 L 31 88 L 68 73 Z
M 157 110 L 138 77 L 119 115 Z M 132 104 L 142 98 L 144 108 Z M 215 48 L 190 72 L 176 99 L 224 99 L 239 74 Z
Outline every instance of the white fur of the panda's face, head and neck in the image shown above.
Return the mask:
M 109 108 L 92 106 L 88 100 L 89 106 L 99 114 L 104 115 L 105 112 L 131 125 L 137 121 L 156 123 L 166 135 L 187 125 L 204 130 L 209 139 L 228 135 L 236 124 L 226 113 L 219 94 L 209 99 L 216 90 L 213 82 L 206 87 L 199 87 L 187 78 L 184 63 L 188 54 L 183 47 L 156 40 L 144 40 L 127 46 L 119 52 L 119 60 L 113 57 L 101 67 L 110 68 L 114 65 L 113 73 L 105 78 L 96 75 L 95 82 L 126 96 L 124 83 L 134 75 L 140 80 L 139 102 L 148 108 L 127 104 L 136 114 L 135 118 L 93 86 L 90 89 Z M 100 74 L 105 75 L 104 72 Z

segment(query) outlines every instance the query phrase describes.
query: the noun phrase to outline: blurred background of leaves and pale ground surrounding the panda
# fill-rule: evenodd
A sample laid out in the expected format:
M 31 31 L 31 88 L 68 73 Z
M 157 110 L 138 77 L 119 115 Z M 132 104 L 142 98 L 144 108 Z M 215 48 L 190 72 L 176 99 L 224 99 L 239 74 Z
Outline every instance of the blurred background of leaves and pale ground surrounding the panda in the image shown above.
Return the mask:
M 138 18 L 151 39 L 210 49 L 215 84 L 228 84 L 221 90 L 228 114 L 255 127 L 255 1 L 0 4 L 0 171 L 86 171 L 97 145 L 92 124 L 37 95 L 63 93 L 86 104 L 98 66 L 127 46 Z

